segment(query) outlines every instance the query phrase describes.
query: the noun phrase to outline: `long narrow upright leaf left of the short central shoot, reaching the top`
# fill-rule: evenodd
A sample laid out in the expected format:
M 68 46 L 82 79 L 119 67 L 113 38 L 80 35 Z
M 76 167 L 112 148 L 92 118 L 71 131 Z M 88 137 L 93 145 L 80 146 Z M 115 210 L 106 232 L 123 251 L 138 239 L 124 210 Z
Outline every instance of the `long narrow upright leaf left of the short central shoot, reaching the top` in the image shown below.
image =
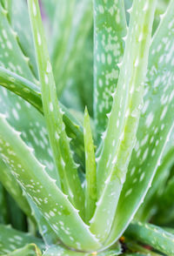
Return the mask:
M 41 83 L 43 113 L 46 120 L 60 185 L 75 207 L 84 214 L 84 191 L 77 173 L 72 153 L 70 152 L 70 139 L 65 132 L 63 113 L 57 100 L 56 85 L 51 71 L 50 57 L 43 34 L 42 19 L 37 1 L 28 1 L 30 23 L 33 32 L 37 54 L 37 68 Z M 55 139 L 57 144 L 55 144 Z

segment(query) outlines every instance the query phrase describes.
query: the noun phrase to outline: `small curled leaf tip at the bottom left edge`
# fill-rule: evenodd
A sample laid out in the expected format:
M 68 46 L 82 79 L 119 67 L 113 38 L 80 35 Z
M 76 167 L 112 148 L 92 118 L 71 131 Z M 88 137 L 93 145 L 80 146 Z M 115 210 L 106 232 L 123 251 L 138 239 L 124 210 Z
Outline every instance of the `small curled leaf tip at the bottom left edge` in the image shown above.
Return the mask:
M 40 249 L 35 244 L 24 246 L 23 248 L 17 249 L 11 253 L 3 254 L 2 256 L 42 256 Z

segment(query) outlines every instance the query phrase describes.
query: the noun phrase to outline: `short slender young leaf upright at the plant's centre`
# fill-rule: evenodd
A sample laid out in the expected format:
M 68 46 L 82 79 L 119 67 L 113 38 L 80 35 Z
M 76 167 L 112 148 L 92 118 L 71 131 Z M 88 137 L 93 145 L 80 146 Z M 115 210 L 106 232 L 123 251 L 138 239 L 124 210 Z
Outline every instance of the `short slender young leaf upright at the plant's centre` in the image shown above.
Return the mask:
M 85 151 L 85 220 L 89 222 L 97 201 L 97 172 L 94 144 L 90 131 L 90 116 L 87 108 L 84 111 L 84 151 Z

